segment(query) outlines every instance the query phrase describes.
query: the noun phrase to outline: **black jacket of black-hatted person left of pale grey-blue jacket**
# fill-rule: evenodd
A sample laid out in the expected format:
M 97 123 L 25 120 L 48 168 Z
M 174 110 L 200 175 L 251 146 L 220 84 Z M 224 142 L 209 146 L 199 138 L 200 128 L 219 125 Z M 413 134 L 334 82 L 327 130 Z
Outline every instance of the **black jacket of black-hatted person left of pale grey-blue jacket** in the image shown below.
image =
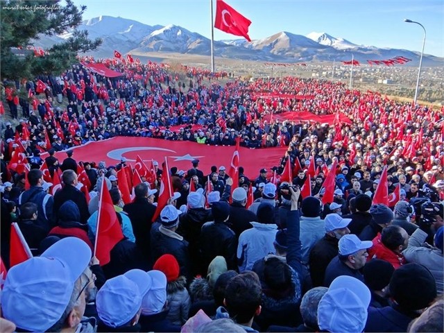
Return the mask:
M 217 255 L 225 258 L 229 270 L 237 270 L 236 234 L 223 222 L 205 223 L 200 231 L 200 255 L 205 271 Z

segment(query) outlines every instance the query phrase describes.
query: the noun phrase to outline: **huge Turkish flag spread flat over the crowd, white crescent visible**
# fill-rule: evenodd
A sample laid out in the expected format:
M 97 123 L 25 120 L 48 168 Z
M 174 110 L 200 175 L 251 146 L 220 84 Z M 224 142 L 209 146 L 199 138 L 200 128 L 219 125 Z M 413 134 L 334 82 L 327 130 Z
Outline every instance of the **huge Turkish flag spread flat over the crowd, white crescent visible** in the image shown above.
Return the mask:
M 233 156 L 234 146 L 207 146 L 196 142 L 168 141 L 163 139 L 151 139 L 145 137 L 113 137 L 112 139 L 99 142 L 89 142 L 83 146 L 71 148 L 74 150 L 73 158 L 77 162 L 105 161 L 107 167 L 120 162 L 121 157 L 126 157 L 127 163 L 135 167 L 137 155 L 142 160 L 151 163 L 151 160 L 159 162 L 168 157 L 169 167 L 178 167 L 187 171 L 191 169 L 191 161 L 200 160 L 199 169 L 203 173 L 210 173 L 213 165 L 219 167 L 223 165 L 227 170 Z M 262 168 L 271 169 L 278 165 L 287 147 L 248 149 L 239 148 L 239 167 L 244 167 L 248 178 L 259 176 Z M 42 158 L 47 153 L 42 154 Z M 61 151 L 56 153 L 60 162 L 67 157 Z

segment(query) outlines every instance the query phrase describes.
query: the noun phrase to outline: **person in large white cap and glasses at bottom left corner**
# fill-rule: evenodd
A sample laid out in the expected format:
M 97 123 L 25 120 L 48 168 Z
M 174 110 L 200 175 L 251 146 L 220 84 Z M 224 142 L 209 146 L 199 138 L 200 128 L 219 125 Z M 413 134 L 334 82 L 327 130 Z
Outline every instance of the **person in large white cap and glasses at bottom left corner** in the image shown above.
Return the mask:
M 91 260 L 84 241 L 67 237 L 40 257 L 10 268 L 1 291 L 4 318 L 30 332 L 75 332 L 85 312 L 85 289 L 80 278 Z

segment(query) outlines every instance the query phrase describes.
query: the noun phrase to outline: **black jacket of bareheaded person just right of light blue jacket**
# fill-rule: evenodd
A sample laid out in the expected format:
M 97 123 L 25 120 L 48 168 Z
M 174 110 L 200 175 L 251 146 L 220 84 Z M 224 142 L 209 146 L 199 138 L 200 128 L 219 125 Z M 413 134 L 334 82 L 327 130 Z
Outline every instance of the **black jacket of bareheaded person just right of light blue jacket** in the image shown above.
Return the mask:
M 151 259 L 150 230 L 151 219 L 153 219 L 155 213 L 155 205 L 148 203 L 146 198 L 136 198 L 133 203 L 124 205 L 123 211 L 128 213 L 131 225 L 133 225 L 137 248 L 139 248 L 148 264 L 149 259 Z

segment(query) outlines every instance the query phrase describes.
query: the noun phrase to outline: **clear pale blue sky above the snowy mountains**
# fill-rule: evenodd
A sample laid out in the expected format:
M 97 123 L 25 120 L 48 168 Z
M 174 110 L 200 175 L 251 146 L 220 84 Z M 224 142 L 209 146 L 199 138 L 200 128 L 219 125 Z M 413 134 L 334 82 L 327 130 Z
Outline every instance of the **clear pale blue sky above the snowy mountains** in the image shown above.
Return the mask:
M 444 57 L 443 0 L 226 0 L 248 17 L 250 38 L 280 31 L 307 35 L 312 31 L 343 37 L 355 44 L 420 51 L 427 30 L 425 53 Z M 110 15 L 148 25 L 176 24 L 210 37 L 210 0 L 74 0 L 86 5 L 84 19 Z M 214 12 L 216 0 L 213 0 Z M 236 39 L 214 29 L 214 39 Z

